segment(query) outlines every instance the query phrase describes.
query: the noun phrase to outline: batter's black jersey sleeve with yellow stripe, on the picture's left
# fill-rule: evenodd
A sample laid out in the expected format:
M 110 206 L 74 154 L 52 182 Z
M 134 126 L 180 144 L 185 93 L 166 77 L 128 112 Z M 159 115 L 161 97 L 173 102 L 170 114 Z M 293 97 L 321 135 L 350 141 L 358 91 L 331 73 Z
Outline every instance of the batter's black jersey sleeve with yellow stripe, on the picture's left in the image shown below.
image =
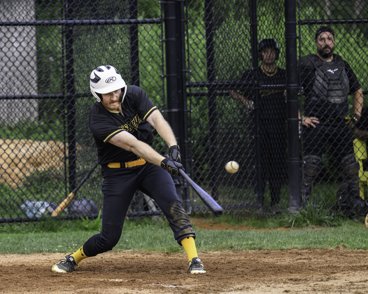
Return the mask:
M 123 126 L 117 126 L 114 120 L 109 117 L 107 110 L 101 109 L 99 106 L 95 104 L 89 112 L 88 125 L 95 138 L 106 143 L 116 134 L 123 132 L 124 129 Z

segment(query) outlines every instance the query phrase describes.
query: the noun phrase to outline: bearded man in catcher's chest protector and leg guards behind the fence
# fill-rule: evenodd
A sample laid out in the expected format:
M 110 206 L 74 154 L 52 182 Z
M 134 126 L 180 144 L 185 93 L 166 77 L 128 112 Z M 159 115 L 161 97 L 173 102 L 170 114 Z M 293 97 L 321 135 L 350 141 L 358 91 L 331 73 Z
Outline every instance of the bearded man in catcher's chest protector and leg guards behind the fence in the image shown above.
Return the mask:
M 360 118 L 363 94 L 353 69 L 340 55 L 333 53 L 335 42 L 331 28 L 319 28 L 315 33 L 316 54 L 300 60 L 301 86 L 305 94 L 303 193 L 306 198 L 311 195 L 312 185 L 322 169 L 322 153 L 329 144 L 330 153 L 342 168 L 343 179 L 337 198 L 349 206 L 351 200 L 359 197 L 359 164 L 353 153 L 351 128 Z M 353 116 L 348 119 L 349 94 L 353 96 Z

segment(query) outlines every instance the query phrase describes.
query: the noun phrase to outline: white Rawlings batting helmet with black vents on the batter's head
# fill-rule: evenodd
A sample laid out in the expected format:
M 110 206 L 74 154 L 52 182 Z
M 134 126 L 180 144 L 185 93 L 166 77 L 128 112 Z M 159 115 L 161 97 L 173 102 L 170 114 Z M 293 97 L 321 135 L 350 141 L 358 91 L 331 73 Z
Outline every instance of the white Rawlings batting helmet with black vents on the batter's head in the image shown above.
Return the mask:
M 89 86 L 91 92 L 95 96 L 97 102 L 101 102 L 102 95 L 121 89 L 120 102 L 123 102 L 125 94 L 127 93 L 127 85 L 116 68 L 110 65 L 102 65 L 93 69 L 89 77 Z

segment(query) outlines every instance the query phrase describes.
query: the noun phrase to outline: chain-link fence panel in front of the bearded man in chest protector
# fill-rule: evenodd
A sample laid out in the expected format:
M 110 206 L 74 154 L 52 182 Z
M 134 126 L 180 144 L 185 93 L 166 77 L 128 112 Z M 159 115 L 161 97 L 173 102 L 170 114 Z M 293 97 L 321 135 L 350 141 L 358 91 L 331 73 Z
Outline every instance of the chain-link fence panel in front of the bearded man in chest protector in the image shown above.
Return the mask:
M 348 216 L 368 212 L 366 12 L 362 0 L 298 2 L 303 203 Z

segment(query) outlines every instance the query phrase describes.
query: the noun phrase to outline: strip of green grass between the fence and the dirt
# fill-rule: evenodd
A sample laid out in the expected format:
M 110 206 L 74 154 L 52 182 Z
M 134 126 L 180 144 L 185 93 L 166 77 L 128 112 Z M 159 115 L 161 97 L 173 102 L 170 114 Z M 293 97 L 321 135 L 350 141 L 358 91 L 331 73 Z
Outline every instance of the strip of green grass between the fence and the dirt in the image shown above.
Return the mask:
M 212 222 L 216 229 L 216 222 Z M 229 225 L 250 227 L 245 230 L 206 230 L 195 227 L 196 244 L 199 252 L 203 251 L 241 251 L 241 250 L 288 250 L 309 248 L 335 248 L 339 245 L 348 249 L 368 249 L 367 234 L 364 224 L 344 221 L 337 227 L 313 226 L 301 229 L 276 229 L 270 220 L 250 219 L 237 221 L 224 218 Z M 31 254 L 40 252 L 73 252 L 89 237 L 99 233 L 96 230 L 82 230 L 73 225 L 48 227 L 49 232 L 42 231 L 40 226 L 17 227 L 0 234 L 0 254 Z M 50 224 L 49 224 L 50 225 Z M 78 227 L 79 226 L 79 227 Z M 99 226 L 100 227 L 100 226 Z M 33 228 L 33 229 L 32 229 Z M 271 228 L 271 229 L 266 229 Z M 272 229 L 274 228 L 274 229 Z M 43 229 L 47 229 L 43 226 Z M 54 230 L 55 232 L 50 232 Z M 341 246 L 340 246 L 341 247 Z M 120 241 L 114 251 L 164 251 L 184 252 L 173 238 L 167 221 L 138 220 L 126 221 Z

